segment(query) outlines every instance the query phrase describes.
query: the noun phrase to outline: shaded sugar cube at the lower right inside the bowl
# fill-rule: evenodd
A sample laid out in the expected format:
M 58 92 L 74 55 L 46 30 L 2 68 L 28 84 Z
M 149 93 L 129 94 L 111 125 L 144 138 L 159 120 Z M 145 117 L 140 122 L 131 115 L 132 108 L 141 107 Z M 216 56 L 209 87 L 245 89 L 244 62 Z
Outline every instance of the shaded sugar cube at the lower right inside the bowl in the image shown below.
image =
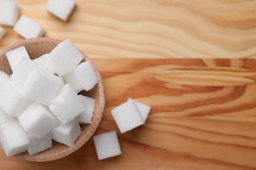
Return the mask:
M 68 124 L 58 124 L 52 130 L 53 140 L 58 143 L 74 146 L 75 141 L 81 134 L 81 128 L 77 119 L 68 122 Z

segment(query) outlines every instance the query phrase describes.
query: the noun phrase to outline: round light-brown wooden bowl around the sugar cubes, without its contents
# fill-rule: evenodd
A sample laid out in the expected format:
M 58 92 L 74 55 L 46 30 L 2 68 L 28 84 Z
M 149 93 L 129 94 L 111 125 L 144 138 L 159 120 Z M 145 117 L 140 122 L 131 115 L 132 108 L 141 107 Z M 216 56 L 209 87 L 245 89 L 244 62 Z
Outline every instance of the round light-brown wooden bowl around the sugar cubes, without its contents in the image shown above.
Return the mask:
M 1 50 L 0 52 L 0 70 L 4 71 L 9 75 L 11 75 L 12 73 L 7 57 L 5 56 L 5 52 L 8 52 L 9 50 L 18 48 L 19 46 L 26 46 L 30 58 L 35 59 L 43 54 L 51 52 L 51 50 L 53 50 L 53 48 L 58 43 L 60 43 L 60 41 L 58 40 L 41 37 L 36 39 L 26 39 L 11 44 L 10 46 L 7 46 L 7 48 Z M 90 60 L 85 54 L 83 54 L 83 57 L 85 61 Z M 30 154 L 24 152 L 22 154 L 16 155 L 18 158 L 28 161 L 57 160 L 71 154 L 72 152 L 75 152 L 75 150 L 83 146 L 83 144 L 85 144 L 90 139 L 93 133 L 95 133 L 98 124 L 100 124 L 100 120 L 102 118 L 102 113 L 105 105 L 105 95 L 102 79 L 100 77 L 100 74 L 98 73 L 98 70 L 95 69 L 95 71 L 96 75 L 98 76 L 98 84 L 96 84 L 95 88 L 93 88 L 89 92 L 81 92 L 83 95 L 87 95 L 95 99 L 95 112 L 93 114 L 93 120 L 91 124 L 81 124 L 81 135 L 79 136 L 77 141 L 75 141 L 74 146 L 69 147 L 64 144 L 56 143 L 55 141 L 53 141 L 53 148 L 49 150 L 46 150 L 39 154 L 35 154 L 33 156 L 30 156 Z

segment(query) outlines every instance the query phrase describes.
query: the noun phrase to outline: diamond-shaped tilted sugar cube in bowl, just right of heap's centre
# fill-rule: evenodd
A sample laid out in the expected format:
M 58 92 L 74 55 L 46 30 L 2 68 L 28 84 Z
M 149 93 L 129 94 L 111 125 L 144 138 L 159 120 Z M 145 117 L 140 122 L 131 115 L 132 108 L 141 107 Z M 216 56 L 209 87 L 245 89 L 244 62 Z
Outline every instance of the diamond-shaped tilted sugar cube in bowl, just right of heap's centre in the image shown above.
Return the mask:
M 63 86 L 49 108 L 62 124 L 70 122 L 85 110 L 81 99 L 70 84 Z

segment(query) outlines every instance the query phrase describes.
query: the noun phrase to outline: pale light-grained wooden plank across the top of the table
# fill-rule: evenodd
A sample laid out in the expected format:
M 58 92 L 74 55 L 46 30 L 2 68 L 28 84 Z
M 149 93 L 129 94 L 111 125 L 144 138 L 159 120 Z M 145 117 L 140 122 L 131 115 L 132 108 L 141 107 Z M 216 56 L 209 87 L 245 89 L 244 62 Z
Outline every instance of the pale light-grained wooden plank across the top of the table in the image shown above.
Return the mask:
M 255 58 L 256 1 L 77 0 L 67 23 L 47 0 L 14 0 L 45 37 L 72 39 L 90 58 Z M 11 27 L 0 48 L 22 37 Z

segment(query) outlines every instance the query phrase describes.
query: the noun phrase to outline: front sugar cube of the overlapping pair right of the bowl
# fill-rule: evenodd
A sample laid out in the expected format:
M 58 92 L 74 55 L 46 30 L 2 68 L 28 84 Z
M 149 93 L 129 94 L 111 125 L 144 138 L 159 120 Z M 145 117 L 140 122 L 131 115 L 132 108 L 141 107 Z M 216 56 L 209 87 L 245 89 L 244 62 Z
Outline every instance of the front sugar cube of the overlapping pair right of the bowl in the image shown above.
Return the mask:
M 133 101 L 126 101 L 115 107 L 111 113 L 121 133 L 144 124 L 143 118 Z

